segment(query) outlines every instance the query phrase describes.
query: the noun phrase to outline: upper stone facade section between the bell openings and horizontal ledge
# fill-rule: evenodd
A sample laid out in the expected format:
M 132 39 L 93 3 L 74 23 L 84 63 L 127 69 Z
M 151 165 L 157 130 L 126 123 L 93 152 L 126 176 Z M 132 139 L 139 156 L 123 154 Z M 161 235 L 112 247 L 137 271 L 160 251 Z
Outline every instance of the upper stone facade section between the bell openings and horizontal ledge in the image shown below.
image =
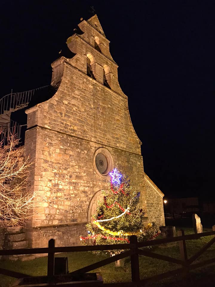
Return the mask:
M 29 114 L 27 126 L 34 125 L 141 155 L 127 97 L 68 64 L 56 94 Z

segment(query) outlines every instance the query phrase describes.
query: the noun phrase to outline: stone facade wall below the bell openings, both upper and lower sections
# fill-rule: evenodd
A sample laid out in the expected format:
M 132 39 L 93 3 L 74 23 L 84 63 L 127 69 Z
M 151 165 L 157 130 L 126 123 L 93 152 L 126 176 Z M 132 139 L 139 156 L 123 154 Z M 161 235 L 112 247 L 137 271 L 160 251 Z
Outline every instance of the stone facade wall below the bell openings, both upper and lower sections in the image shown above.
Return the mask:
M 77 233 L 85 232 L 90 200 L 109 181 L 93 167 L 93 155 L 101 146 L 111 152 L 114 164 L 129 175 L 137 192 L 141 192 L 146 209 L 142 156 L 130 122 L 127 98 L 68 64 L 64 75 L 56 95 L 28 114 L 28 127 L 37 125 L 27 130 L 25 139 L 26 153 L 35 159 L 30 180 L 38 194 L 35 214 L 29 222 L 35 228 L 28 231 L 30 246 L 34 247 L 47 246 L 47 226 L 63 230 L 51 234 L 56 246 L 70 245 L 71 241 L 79 244 Z M 76 239 L 68 241 L 63 234 L 71 236 L 70 230 L 77 223 L 79 227 L 73 233 Z

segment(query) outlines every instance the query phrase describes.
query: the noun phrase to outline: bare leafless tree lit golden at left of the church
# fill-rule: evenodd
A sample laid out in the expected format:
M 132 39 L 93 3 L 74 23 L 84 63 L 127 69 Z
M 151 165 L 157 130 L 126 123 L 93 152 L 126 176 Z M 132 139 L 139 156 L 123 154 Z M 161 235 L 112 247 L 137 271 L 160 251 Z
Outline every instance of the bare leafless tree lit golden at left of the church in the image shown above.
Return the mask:
M 1 132 L 0 132 L 1 133 Z M 0 142 L 0 220 L 6 227 L 24 226 L 32 216 L 35 192 L 27 181 L 32 161 L 24 155 L 16 134 Z

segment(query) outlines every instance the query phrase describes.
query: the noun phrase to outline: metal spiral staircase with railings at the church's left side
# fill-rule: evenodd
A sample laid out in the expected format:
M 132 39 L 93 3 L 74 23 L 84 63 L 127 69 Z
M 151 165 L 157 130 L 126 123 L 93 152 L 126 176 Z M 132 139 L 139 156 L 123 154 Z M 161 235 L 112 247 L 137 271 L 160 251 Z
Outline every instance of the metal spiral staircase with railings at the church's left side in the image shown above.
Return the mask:
M 16 135 L 17 139 L 21 135 L 21 127 L 19 123 L 11 120 L 10 116 L 12 112 L 18 111 L 27 107 L 30 101 L 33 99 L 37 91 L 40 91 L 49 86 L 36 88 L 30 91 L 24 91 L 20 93 L 11 93 L 0 100 L 0 142 L 3 145 L 7 145 L 8 136 L 10 134 Z M 26 126 L 26 125 L 25 125 Z

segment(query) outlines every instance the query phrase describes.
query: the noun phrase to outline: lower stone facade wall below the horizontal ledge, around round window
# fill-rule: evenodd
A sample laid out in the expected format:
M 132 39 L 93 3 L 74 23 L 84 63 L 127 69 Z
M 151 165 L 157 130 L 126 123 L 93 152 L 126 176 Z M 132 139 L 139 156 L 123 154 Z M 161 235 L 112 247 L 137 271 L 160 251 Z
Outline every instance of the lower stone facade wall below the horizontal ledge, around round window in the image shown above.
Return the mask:
M 98 190 L 107 188 L 109 181 L 93 168 L 94 152 L 101 145 L 47 128 L 34 130 L 40 146 L 34 176 L 38 196 L 28 240 L 34 247 L 46 246 L 50 238 L 56 239 L 56 246 L 78 245 L 79 235 L 85 234 L 90 201 Z M 142 157 L 117 148 L 108 150 L 119 170 L 128 174 L 136 191 L 141 192 L 141 204 L 146 209 Z

